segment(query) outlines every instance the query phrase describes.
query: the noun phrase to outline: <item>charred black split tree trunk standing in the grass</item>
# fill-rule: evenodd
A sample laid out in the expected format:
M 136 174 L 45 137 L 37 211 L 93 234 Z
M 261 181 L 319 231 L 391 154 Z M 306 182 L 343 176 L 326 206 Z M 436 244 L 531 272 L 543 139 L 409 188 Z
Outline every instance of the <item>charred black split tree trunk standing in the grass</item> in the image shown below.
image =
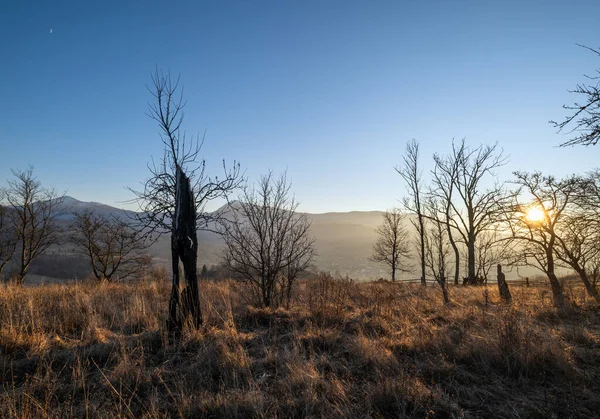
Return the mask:
M 199 328 L 202 324 L 200 298 L 198 296 L 198 278 L 196 276 L 196 258 L 198 254 L 198 238 L 196 235 L 196 205 L 190 186 L 190 179 L 181 167 L 177 167 L 175 214 L 171 230 L 171 263 L 173 284 L 169 300 L 169 318 L 167 331 L 169 341 L 181 336 L 183 322 L 191 316 L 192 326 Z M 183 265 L 185 287 L 179 290 L 180 262 Z

